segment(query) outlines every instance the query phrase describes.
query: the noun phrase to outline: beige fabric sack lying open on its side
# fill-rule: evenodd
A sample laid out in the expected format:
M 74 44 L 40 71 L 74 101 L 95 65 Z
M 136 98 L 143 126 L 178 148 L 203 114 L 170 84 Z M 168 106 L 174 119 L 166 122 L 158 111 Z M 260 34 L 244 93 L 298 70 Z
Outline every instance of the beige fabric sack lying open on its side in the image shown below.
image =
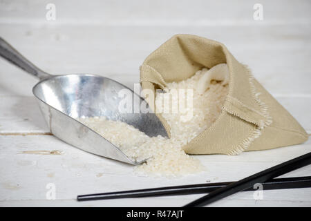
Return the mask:
M 173 36 L 145 59 L 140 82 L 143 89 L 164 88 L 167 82 L 182 81 L 203 67 L 220 63 L 229 68 L 229 94 L 223 111 L 214 124 L 183 146 L 186 153 L 235 155 L 308 140 L 296 119 L 216 41 L 194 35 Z M 167 122 L 158 117 L 169 132 Z

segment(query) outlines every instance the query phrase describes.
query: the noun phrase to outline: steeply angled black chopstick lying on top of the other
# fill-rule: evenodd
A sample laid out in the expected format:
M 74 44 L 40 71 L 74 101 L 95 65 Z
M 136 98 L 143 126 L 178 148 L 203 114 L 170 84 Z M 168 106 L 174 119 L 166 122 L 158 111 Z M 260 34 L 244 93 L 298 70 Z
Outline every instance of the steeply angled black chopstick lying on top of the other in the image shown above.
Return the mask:
M 234 182 L 220 189 L 216 189 L 216 191 L 213 191 L 208 195 L 199 198 L 198 200 L 190 202 L 189 204 L 185 205 L 185 207 L 205 206 L 207 204 L 210 204 L 211 202 L 215 202 L 216 200 L 225 198 L 228 195 L 232 195 L 239 191 L 248 189 L 254 186 L 254 184 L 256 183 L 266 182 L 267 180 L 271 180 L 274 177 L 278 177 L 279 175 L 294 171 L 309 164 L 311 164 L 311 153 L 296 157 L 292 160 L 283 162 L 282 164 L 278 164 L 269 169 L 246 177 L 243 180 L 239 180 L 238 182 Z

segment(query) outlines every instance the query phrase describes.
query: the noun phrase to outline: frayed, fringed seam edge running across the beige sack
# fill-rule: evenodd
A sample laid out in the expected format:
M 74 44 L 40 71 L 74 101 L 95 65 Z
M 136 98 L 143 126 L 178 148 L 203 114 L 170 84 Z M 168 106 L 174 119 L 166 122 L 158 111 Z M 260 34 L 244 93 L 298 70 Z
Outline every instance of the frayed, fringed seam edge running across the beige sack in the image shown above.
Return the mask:
M 252 95 L 255 99 L 255 102 L 258 104 L 259 108 L 261 108 L 261 111 L 263 112 L 263 115 L 265 116 L 265 121 L 261 121 L 261 126 L 255 126 L 254 131 L 249 134 L 247 138 L 245 138 L 238 146 L 236 146 L 232 151 L 229 151 L 229 155 L 238 155 L 239 153 L 242 153 L 243 151 L 247 150 L 247 148 L 254 142 L 254 140 L 261 135 L 261 130 L 265 128 L 265 126 L 268 126 L 272 124 L 272 117 L 270 116 L 270 113 L 267 111 L 268 107 L 267 105 L 259 99 L 260 93 L 256 92 L 256 86 L 254 85 L 253 79 L 249 68 L 247 66 L 243 65 L 245 69 L 247 70 L 247 75 L 249 77 L 249 86 L 251 88 Z

